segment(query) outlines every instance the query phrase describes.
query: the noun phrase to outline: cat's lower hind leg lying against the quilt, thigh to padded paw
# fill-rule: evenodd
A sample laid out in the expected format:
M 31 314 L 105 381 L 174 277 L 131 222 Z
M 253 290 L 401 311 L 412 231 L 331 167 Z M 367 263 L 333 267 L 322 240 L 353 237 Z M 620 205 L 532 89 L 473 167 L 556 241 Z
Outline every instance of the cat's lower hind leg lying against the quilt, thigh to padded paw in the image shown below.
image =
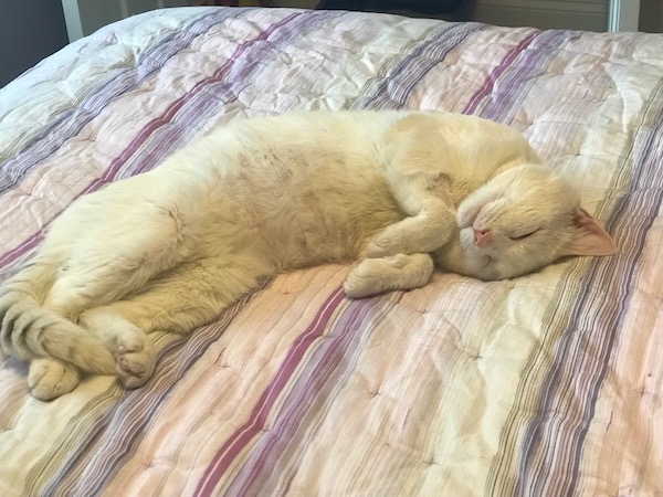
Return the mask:
M 260 261 L 240 256 L 182 263 L 137 294 L 84 311 L 81 322 L 115 355 L 123 384 L 137 388 L 155 368 L 156 351 L 148 334 L 187 334 L 211 322 L 272 274 Z

